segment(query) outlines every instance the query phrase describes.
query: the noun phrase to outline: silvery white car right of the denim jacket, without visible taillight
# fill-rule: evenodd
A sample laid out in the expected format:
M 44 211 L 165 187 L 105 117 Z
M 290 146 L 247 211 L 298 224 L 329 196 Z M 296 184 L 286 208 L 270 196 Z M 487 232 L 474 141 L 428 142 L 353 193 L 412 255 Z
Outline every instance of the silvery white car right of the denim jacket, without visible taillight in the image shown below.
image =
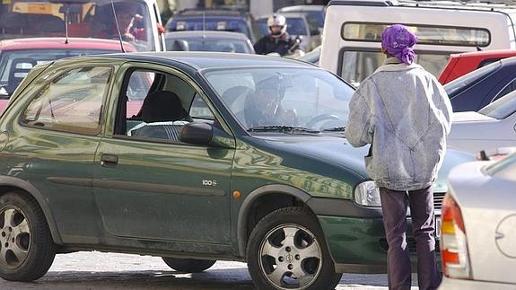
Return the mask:
M 472 154 L 516 146 L 516 91 L 477 112 L 453 113 L 448 145 Z

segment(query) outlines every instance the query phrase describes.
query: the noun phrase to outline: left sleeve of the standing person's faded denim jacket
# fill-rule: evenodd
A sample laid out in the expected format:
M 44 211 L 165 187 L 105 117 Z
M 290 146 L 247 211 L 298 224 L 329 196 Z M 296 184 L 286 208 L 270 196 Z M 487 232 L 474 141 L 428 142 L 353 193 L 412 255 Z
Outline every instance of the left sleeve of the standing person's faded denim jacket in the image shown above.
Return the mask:
M 372 143 L 370 106 L 360 94 L 359 90 L 354 92 L 349 101 L 349 118 L 345 127 L 345 137 L 354 147 Z

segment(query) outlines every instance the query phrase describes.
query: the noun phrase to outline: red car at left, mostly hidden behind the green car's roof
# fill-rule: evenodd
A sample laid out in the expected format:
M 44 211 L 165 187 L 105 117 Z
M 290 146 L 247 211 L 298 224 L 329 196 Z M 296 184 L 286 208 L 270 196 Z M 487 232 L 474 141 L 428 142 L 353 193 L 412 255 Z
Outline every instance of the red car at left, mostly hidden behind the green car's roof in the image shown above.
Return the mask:
M 127 52 L 136 48 L 124 42 Z M 0 41 L 0 111 L 33 66 L 63 57 L 120 52 L 118 40 L 31 38 Z

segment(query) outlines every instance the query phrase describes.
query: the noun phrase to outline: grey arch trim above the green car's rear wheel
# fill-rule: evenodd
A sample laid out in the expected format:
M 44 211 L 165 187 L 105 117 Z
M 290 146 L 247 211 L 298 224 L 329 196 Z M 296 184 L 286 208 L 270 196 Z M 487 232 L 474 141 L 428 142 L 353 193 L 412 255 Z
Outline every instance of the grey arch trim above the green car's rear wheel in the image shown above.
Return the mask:
M 61 235 L 57 231 L 57 225 L 54 216 L 50 211 L 50 207 L 48 207 L 47 199 L 43 197 L 43 195 L 39 192 L 38 189 L 32 186 L 31 183 L 29 183 L 28 181 L 17 179 L 12 176 L 0 176 L 0 186 L 8 186 L 17 189 L 22 189 L 26 191 L 28 194 L 30 194 L 32 198 L 36 199 L 39 207 L 41 207 L 41 210 L 43 211 L 43 215 L 45 215 L 45 218 L 47 220 L 48 228 L 50 229 L 50 233 L 52 234 L 52 240 L 54 240 L 54 242 L 57 244 L 63 243 L 63 241 L 61 240 Z

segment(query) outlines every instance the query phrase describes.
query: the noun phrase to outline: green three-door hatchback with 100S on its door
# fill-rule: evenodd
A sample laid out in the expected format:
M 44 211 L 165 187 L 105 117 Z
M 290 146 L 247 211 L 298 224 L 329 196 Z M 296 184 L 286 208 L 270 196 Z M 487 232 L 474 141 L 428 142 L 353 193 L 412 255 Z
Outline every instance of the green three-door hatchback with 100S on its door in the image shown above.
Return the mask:
M 76 250 L 159 256 L 183 272 L 247 261 L 259 289 L 328 289 L 343 272 L 385 271 L 367 148 L 344 137 L 353 92 L 280 57 L 36 66 L 0 119 L 0 277 L 38 279 Z M 468 160 L 449 151 L 436 208 L 450 167 Z

